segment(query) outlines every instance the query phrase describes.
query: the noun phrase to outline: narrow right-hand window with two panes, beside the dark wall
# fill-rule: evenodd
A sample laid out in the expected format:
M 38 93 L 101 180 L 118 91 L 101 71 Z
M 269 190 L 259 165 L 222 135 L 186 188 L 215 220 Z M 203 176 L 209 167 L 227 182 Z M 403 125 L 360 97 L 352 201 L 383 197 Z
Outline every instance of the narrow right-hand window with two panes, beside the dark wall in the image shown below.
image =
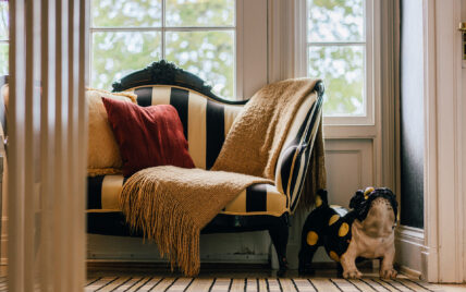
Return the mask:
M 307 74 L 326 82 L 326 123 L 372 122 L 372 0 L 307 5 Z

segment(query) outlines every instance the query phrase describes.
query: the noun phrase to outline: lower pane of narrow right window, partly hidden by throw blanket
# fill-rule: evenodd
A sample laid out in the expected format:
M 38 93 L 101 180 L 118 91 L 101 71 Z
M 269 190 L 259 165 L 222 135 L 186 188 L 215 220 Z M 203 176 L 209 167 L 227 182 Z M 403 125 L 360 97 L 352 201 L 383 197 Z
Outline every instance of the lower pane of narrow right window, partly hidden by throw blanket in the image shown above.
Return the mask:
M 365 114 L 365 47 L 309 47 L 308 75 L 326 84 L 326 115 Z

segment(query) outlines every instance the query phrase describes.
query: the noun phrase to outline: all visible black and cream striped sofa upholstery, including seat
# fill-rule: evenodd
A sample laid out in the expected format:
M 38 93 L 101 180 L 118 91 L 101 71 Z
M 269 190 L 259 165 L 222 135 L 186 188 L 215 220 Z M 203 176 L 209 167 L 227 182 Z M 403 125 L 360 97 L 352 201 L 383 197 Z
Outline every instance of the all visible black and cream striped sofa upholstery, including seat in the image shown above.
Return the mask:
M 234 119 L 242 110 L 242 106 L 222 104 L 177 86 L 150 85 L 127 92 L 137 95 L 139 106 L 172 105 L 176 108 L 188 141 L 189 155 L 195 166 L 201 169 L 213 166 Z M 310 95 L 294 118 L 275 168 L 275 184 L 247 187 L 221 214 L 280 217 L 295 210 L 311 151 L 308 145 L 312 145 L 320 122 L 321 98 L 315 101 L 316 96 Z M 122 175 L 89 177 L 88 211 L 118 210 L 124 181 Z

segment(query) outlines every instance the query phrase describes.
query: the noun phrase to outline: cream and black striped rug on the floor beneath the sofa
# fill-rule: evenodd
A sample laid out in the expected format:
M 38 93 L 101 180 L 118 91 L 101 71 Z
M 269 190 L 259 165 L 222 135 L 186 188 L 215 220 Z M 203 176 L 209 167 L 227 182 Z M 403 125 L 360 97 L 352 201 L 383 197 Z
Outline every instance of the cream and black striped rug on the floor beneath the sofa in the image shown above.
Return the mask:
M 108 277 L 89 279 L 86 291 L 442 291 L 409 279 L 365 278 L 164 278 Z

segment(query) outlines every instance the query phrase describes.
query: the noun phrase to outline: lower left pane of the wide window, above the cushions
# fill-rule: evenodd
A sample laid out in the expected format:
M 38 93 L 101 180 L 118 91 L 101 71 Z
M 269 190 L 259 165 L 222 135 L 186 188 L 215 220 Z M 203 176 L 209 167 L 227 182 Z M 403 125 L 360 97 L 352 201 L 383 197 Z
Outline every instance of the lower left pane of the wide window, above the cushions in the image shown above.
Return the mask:
M 113 82 L 160 58 L 160 33 L 94 33 L 91 85 L 95 88 L 111 89 Z

